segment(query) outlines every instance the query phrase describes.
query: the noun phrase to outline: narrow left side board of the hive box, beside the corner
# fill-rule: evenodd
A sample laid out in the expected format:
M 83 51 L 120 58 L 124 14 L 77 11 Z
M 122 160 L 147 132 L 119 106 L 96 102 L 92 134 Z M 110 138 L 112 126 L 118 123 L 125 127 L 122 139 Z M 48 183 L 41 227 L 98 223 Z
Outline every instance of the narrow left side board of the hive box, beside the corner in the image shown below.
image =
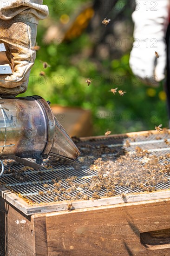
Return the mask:
M 35 256 L 33 222 L 0 197 L 0 255 Z

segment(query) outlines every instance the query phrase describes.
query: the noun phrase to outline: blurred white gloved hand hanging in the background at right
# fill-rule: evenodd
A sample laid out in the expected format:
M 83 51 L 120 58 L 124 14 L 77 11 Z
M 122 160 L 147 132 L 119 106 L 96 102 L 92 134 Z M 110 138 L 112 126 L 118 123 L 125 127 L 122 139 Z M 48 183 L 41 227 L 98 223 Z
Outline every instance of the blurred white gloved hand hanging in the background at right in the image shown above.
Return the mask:
M 143 82 L 153 86 L 165 77 L 169 8 L 169 0 L 137 0 L 132 14 L 135 42 L 130 54 L 130 67 Z

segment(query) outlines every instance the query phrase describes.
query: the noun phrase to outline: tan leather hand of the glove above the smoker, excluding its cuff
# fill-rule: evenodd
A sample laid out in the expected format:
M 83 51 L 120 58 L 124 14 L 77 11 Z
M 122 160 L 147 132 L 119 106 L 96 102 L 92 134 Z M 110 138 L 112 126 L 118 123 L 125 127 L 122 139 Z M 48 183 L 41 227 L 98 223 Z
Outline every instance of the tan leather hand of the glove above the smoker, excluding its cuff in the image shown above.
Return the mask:
M 12 75 L 0 75 L 0 94 L 17 95 L 27 89 L 30 69 L 36 58 L 37 24 L 0 20 L 0 43 L 4 43 Z

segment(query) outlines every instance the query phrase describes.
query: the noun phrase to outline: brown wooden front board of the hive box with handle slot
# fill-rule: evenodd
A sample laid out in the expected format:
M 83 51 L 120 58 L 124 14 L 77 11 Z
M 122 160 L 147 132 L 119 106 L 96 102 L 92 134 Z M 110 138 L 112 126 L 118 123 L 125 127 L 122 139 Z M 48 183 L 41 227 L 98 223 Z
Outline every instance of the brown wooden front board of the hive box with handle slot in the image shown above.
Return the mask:
M 170 200 L 46 214 L 50 256 L 169 256 L 170 247 L 146 249 L 140 243 L 141 233 L 169 228 Z

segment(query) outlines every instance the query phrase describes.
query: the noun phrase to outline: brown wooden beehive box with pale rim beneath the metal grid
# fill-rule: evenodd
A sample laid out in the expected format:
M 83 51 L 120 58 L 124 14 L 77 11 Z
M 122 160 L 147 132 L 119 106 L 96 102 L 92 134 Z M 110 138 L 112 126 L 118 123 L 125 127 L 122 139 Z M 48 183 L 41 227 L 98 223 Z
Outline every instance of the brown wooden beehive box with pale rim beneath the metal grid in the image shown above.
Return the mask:
M 75 200 L 69 210 L 65 200 L 28 204 L 14 185 L 0 185 L 0 256 L 170 255 L 170 189 Z

